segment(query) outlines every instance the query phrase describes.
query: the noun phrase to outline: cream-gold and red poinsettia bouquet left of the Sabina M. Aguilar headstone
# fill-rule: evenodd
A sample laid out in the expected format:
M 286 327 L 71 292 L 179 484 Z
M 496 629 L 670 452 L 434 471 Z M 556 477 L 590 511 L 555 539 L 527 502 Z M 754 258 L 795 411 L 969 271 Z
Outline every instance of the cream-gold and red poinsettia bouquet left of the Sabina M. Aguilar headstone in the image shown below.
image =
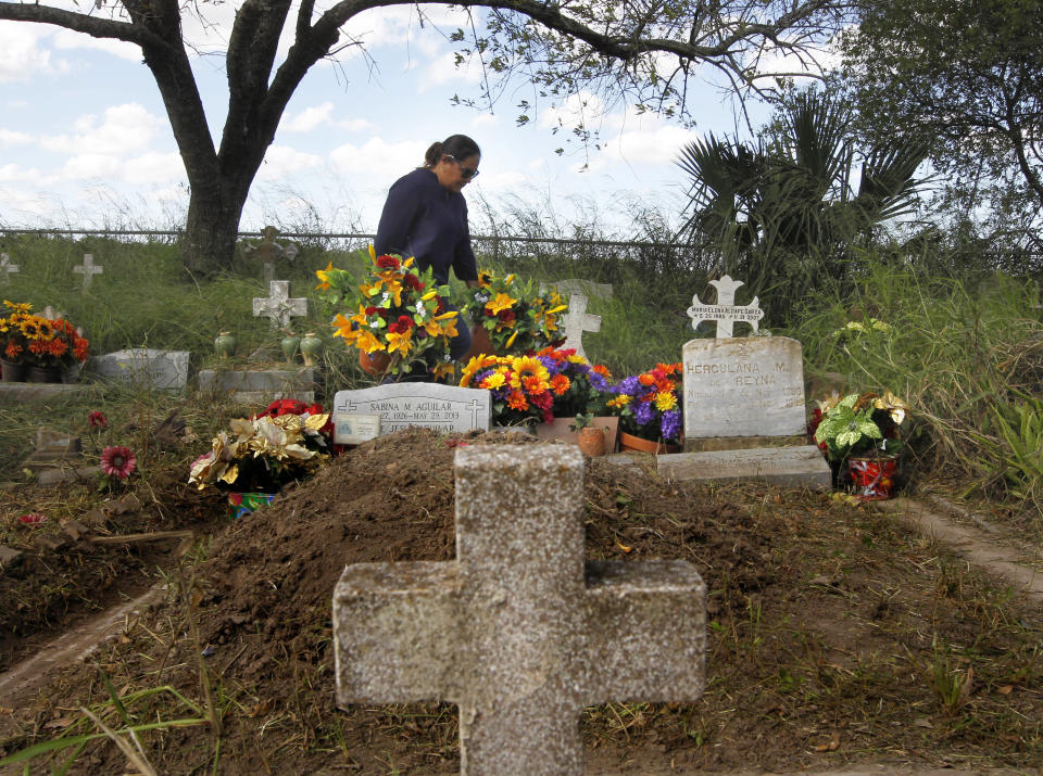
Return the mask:
M 223 491 L 275 493 L 329 457 L 329 414 L 321 405 L 282 399 L 251 419 L 229 421 L 211 450 L 191 466 L 188 482 Z

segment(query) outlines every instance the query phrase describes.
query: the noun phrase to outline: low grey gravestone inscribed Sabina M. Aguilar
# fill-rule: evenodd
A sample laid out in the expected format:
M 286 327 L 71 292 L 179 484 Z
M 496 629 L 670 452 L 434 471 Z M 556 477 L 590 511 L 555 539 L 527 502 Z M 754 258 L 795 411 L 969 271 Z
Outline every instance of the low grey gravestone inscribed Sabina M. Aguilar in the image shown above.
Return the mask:
M 440 383 L 392 383 L 334 397 L 334 442 L 356 445 L 410 427 L 440 433 L 489 430 L 488 391 Z

